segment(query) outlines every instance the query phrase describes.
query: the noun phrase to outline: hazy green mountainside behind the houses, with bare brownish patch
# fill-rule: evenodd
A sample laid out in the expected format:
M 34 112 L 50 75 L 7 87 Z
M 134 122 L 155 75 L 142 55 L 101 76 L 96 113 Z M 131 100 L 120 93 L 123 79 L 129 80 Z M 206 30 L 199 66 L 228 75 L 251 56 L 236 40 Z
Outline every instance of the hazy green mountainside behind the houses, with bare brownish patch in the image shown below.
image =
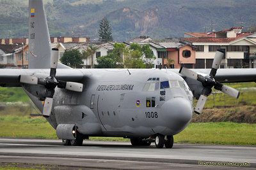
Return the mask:
M 0 0 L 0 38 L 28 36 L 28 0 Z M 254 0 L 45 0 L 51 36 L 99 37 L 107 17 L 113 38 L 183 37 L 184 32 L 220 31 L 256 25 Z

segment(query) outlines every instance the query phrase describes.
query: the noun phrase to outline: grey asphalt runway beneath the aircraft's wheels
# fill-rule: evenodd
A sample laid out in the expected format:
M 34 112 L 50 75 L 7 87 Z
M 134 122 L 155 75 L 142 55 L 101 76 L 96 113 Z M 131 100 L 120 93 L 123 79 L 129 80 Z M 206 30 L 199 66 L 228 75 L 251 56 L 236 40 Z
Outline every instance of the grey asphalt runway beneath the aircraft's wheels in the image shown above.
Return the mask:
M 256 169 L 255 146 L 174 144 L 172 149 L 90 141 L 0 138 L 0 162 L 57 165 L 63 169 Z M 0 165 L 1 166 L 1 165 Z

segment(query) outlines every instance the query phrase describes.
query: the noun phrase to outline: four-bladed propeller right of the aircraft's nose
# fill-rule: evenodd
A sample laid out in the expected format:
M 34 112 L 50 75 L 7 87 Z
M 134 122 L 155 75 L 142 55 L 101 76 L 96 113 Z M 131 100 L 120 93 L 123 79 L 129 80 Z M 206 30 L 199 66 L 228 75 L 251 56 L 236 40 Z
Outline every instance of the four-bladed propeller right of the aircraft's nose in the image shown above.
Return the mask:
M 221 50 L 218 50 L 215 54 L 214 60 L 212 62 L 212 69 L 209 75 L 202 76 L 201 74 L 197 74 L 194 71 L 191 71 L 190 69 L 187 69 L 186 67 L 181 67 L 179 73 L 188 77 L 192 78 L 193 80 L 200 81 L 203 85 L 203 90 L 201 92 L 201 95 L 196 103 L 195 107 L 195 113 L 200 114 L 202 113 L 202 110 L 204 108 L 204 105 L 207 100 L 207 96 L 209 96 L 212 92 L 212 87 L 216 90 L 220 90 L 221 92 L 227 94 L 228 96 L 238 98 L 239 97 L 239 91 L 236 89 L 233 89 L 232 87 L 228 87 L 227 85 L 223 85 L 219 83 L 218 81 L 214 80 L 214 77 L 217 73 L 218 67 L 220 66 L 221 59 L 223 59 L 224 52 Z

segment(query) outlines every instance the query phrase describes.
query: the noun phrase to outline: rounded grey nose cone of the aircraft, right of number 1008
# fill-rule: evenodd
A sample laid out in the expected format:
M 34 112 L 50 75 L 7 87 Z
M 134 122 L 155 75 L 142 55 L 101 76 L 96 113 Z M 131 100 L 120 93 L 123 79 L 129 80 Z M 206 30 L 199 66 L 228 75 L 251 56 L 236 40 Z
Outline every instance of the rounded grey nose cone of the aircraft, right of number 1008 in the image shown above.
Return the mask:
M 173 134 L 177 134 L 189 124 L 193 109 L 187 99 L 177 97 L 166 101 L 161 107 L 161 113 L 164 114 L 166 124 L 173 131 Z

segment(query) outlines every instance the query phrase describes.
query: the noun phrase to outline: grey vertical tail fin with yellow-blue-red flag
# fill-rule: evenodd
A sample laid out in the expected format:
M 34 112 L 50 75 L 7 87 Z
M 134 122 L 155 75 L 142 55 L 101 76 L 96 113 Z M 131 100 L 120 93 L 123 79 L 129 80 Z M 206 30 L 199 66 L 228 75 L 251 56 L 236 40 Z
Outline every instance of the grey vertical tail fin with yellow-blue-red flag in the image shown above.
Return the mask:
M 29 0 L 29 69 L 49 69 L 51 41 L 42 0 Z

